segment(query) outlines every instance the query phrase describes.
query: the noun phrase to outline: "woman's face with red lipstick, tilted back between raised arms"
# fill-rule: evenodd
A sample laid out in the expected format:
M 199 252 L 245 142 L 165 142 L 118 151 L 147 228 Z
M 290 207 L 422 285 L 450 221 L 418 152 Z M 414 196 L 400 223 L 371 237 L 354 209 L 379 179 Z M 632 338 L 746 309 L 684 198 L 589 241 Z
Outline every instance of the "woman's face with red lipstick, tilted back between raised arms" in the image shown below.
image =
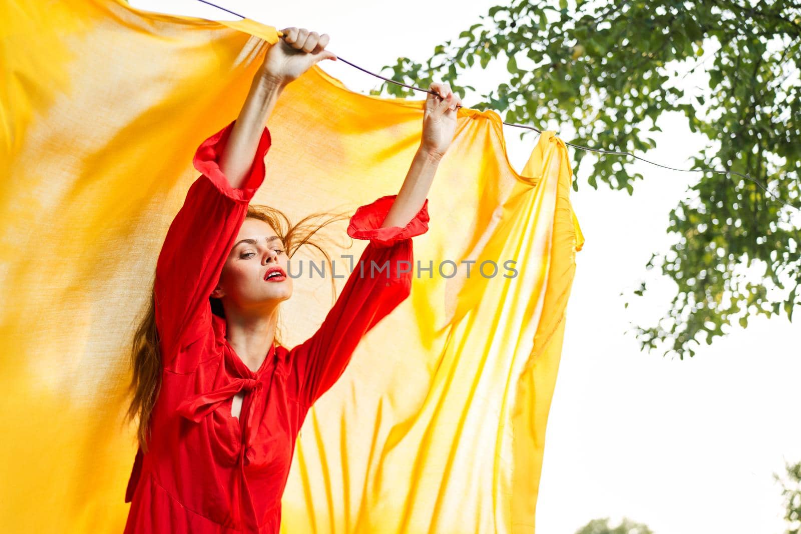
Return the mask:
M 211 296 L 225 301 L 226 307 L 234 306 L 243 312 L 272 311 L 292 296 L 288 259 L 284 243 L 268 223 L 246 218 Z M 275 267 L 283 275 L 265 279 Z

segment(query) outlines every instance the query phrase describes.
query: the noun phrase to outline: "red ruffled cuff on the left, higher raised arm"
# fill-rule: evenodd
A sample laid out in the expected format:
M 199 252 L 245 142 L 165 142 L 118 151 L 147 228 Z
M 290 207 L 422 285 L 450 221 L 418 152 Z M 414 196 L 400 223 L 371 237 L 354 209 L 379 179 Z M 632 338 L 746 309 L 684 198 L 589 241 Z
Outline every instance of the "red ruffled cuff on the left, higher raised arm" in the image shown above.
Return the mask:
M 231 136 L 231 130 L 234 127 L 236 119 L 231 121 L 222 130 L 219 130 L 215 135 L 203 141 L 197 151 L 195 151 L 195 158 L 192 163 L 195 169 L 203 173 L 211 183 L 219 189 L 219 191 L 227 197 L 242 203 L 249 203 L 256 195 L 256 191 L 264 182 L 264 156 L 267 155 L 272 139 L 270 137 L 270 130 L 264 126 L 259 139 L 259 147 L 256 149 L 256 157 L 253 159 L 248 175 L 245 177 L 242 186 L 238 189 L 231 187 L 231 183 L 219 169 L 219 156 L 222 155 L 225 146 L 227 145 L 228 138 Z

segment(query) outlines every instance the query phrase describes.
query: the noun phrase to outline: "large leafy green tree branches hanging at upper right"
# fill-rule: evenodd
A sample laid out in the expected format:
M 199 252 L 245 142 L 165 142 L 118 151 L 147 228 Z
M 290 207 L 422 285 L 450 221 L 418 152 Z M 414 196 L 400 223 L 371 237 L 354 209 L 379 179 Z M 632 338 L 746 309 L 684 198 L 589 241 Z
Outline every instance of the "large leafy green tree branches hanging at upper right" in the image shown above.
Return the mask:
M 508 75 L 465 105 L 496 110 L 505 122 L 570 125 L 573 143 L 639 155 L 656 146 L 648 134 L 661 131 L 657 118 L 678 112 L 709 139 L 691 168 L 737 171 L 770 191 L 735 175 L 694 173 L 697 182 L 670 211 L 676 243 L 645 265 L 677 290 L 662 319 L 635 325 L 642 349 L 659 343 L 683 358 L 735 320 L 746 327 L 749 317 L 782 311 L 792 320 L 801 302 L 801 14 L 793 2 L 514 0 L 435 46 L 425 64 L 398 58 L 384 69 L 424 88 L 449 82 L 464 98 L 474 88 L 459 86 L 460 74 L 493 59 L 506 62 Z M 690 73 L 706 76 L 707 86 L 686 87 Z M 388 82 L 372 92 L 383 91 L 413 94 Z M 586 155 L 574 152 L 574 176 Z M 594 188 L 605 182 L 631 195 L 644 179 L 631 158 L 590 160 Z M 752 264 L 764 268 L 755 281 L 745 275 Z M 645 293 L 645 283 L 634 291 Z

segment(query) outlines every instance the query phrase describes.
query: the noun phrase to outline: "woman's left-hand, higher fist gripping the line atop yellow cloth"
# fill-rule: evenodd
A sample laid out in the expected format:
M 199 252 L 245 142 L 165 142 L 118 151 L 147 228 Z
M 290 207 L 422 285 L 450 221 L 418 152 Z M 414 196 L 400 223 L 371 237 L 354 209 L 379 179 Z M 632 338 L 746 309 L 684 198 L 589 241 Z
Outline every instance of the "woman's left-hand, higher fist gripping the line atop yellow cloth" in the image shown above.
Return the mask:
M 269 82 L 286 86 L 300 78 L 312 65 L 323 59 L 336 61 L 336 55 L 325 50 L 328 34 L 318 34 L 306 28 L 284 28 L 284 34 L 264 55 L 261 75 Z

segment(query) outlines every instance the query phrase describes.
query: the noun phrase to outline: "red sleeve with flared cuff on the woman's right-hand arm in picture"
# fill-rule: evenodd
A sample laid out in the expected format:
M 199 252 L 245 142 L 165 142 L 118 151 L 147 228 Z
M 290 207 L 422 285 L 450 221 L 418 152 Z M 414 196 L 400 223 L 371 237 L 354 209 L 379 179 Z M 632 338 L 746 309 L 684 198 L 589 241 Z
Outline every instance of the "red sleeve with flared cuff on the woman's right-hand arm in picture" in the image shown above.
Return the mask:
M 396 196 L 381 197 L 356 210 L 348 235 L 370 242 L 320 329 L 290 351 L 292 379 L 298 384 L 298 400 L 306 407 L 334 385 L 360 339 L 412 289 L 412 237 L 429 230 L 429 200 L 405 227 L 381 228 Z

